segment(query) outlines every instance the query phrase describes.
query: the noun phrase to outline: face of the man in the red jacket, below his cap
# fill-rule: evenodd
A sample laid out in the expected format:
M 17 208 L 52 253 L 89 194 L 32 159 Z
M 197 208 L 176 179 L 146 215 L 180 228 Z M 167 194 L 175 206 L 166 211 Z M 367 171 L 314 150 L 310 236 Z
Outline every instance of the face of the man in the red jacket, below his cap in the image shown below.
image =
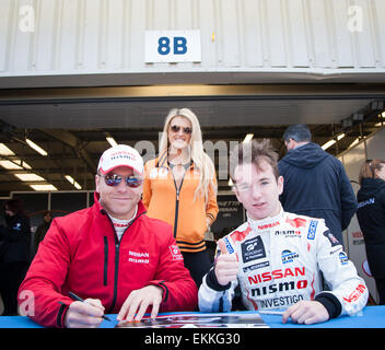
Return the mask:
M 120 175 L 122 177 L 135 175 L 133 171 L 127 166 L 119 166 L 108 174 Z M 105 178 L 98 175 L 95 176 L 95 182 L 96 191 L 101 196 L 101 205 L 104 209 L 116 219 L 131 219 L 140 200 L 143 184 L 139 187 L 129 187 L 124 179 L 116 186 L 108 186 L 105 183 Z

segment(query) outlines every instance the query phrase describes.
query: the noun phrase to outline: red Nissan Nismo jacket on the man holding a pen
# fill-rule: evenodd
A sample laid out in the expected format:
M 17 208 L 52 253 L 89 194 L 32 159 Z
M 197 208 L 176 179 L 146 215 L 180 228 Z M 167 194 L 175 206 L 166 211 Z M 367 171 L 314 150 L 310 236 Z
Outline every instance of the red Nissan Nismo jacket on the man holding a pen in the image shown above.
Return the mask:
M 131 291 L 150 284 L 164 290 L 161 312 L 195 310 L 197 287 L 172 226 L 147 217 L 140 201 L 137 217 L 118 241 L 95 194 L 91 208 L 52 221 L 20 287 L 19 303 L 27 305 L 26 314 L 35 322 L 65 327 L 73 302 L 69 291 L 100 299 L 106 313 L 118 313 Z

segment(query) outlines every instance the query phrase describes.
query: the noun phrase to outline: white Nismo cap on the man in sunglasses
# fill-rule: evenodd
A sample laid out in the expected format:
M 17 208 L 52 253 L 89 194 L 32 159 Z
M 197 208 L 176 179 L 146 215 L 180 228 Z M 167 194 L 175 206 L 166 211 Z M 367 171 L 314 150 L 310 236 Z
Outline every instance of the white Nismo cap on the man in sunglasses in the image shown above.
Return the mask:
M 127 144 L 114 145 L 104 151 L 98 161 L 97 171 L 106 175 L 119 166 L 128 166 L 140 175 L 144 172 L 143 159 L 136 149 Z

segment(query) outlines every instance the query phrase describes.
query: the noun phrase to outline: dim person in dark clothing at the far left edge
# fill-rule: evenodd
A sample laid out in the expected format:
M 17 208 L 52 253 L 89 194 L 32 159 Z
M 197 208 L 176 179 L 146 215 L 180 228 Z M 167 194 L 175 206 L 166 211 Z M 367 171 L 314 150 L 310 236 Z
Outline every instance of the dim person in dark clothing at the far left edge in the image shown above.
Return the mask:
M 3 316 L 18 315 L 18 289 L 30 259 L 31 224 L 21 199 L 5 202 L 7 228 L 0 230 L 0 294 Z

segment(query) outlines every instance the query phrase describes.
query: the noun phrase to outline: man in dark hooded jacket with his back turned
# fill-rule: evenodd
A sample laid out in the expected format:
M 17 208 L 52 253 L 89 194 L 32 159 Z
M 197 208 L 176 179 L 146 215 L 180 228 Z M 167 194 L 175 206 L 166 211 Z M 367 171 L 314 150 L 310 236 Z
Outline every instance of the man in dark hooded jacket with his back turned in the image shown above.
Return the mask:
M 318 144 L 305 125 L 290 126 L 283 133 L 288 153 L 279 162 L 283 176 L 280 201 L 285 211 L 325 219 L 343 245 L 346 230 L 357 210 L 357 199 L 343 165 Z

